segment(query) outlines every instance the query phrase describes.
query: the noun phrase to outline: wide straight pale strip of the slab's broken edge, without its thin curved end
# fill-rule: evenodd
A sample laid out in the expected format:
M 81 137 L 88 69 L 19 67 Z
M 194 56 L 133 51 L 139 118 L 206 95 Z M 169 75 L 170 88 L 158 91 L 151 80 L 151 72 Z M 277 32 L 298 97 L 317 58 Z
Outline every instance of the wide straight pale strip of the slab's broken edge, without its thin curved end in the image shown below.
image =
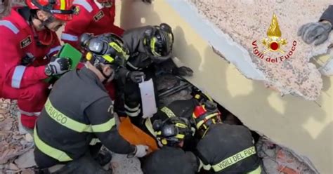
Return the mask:
M 249 52 L 240 46 L 240 44 L 235 43 L 228 34 L 223 33 L 221 29 L 218 29 L 209 22 L 209 20 L 204 19 L 192 3 L 186 0 L 166 0 L 166 2 L 180 13 L 183 19 L 188 22 L 202 38 L 211 46 L 214 46 L 216 51 L 223 53 L 223 56 L 228 61 L 232 62 L 247 79 L 267 81 L 265 75 L 252 62 Z M 211 33 L 215 33 L 217 36 L 211 35 Z M 220 38 L 223 38 L 226 42 L 221 42 Z M 230 53 L 230 50 L 233 50 L 232 53 Z M 247 64 L 244 64 L 240 58 L 244 58 Z

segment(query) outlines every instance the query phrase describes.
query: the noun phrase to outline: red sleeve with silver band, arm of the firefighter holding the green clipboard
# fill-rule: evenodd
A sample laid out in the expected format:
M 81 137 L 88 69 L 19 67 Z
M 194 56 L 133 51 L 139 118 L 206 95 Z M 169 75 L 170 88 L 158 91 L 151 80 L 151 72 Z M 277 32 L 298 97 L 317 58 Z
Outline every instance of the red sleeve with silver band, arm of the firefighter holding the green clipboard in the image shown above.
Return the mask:
M 37 83 L 41 79 L 46 79 L 44 73 L 45 66 L 32 67 L 20 65 L 22 56 L 20 55 L 20 41 L 15 39 L 15 34 L 6 27 L 0 28 L 1 39 L 8 44 L 0 46 L 0 61 L 3 78 L 8 86 L 13 88 L 25 88 Z

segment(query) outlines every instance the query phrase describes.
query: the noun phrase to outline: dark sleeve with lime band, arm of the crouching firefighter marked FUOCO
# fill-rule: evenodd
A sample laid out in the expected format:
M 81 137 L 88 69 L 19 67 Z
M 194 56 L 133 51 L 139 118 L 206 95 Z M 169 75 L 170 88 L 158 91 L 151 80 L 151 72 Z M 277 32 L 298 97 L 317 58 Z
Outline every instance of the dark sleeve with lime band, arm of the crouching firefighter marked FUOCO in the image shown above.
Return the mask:
M 136 151 L 135 146 L 119 135 L 113 116 L 112 101 L 109 97 L 93 102 L 85 112 L 93 132 L 107 149 L 117 154 L 131 154 Z

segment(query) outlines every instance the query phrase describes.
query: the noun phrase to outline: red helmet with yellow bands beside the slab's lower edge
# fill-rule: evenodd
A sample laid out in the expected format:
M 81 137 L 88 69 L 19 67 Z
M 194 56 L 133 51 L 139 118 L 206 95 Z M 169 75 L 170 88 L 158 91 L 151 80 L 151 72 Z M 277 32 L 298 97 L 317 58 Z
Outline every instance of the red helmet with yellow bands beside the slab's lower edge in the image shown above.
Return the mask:
M 216 103 L 207 100 L 204 105 L 195 107 L 192 117 L 197 129 L 206 130 L 211 124 L 221 122 L 220 115 Z

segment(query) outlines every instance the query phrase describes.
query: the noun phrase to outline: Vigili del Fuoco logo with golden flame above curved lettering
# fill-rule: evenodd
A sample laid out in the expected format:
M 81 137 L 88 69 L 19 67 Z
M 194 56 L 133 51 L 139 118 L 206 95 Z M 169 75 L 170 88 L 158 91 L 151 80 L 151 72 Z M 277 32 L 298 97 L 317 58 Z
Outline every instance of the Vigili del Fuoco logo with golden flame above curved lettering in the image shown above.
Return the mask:
M 253 53 L 256 55 L 256 57 L 266 60 L 266 62 L 282 62 L 283 60 L 287 60 L 291 58 L 291 56 L 294 54 L 294 51 L 296 50 L 296 41 L 292 42 L 292 48 L 289 49 L 289 51 L 285 51 L 285 47 L 287 45 L 287 39 L 281 38 L 281 30 L 278 23 L 278 18 L 275 14 L 273 14 L 272 22 L 270 23 L 270 27 L 267 31 L 267 38 L 264 38 L 262 41 L 263 46 L 265 46 L 266 50 L 259 51 L 258 44 L 255 41 L 252 42 L 253 47 Z M 280 53 L 281 56 L 270 56 L 266 53 Z

